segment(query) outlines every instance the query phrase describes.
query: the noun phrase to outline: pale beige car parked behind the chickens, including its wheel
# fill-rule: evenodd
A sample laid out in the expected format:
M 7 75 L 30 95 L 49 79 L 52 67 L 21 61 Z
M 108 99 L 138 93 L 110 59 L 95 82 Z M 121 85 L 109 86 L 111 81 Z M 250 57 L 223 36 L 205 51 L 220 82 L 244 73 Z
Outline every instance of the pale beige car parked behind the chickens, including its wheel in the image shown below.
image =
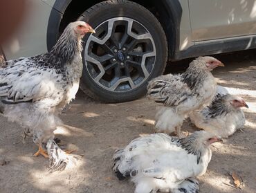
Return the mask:
M 145 95 L 167 61 L 256 47 L 254 0 L 29 2 L 5 59 L 51 50 L 68 23 L 86 21 L 96 33 L 84 37 L 80 89 L 105 102 Z

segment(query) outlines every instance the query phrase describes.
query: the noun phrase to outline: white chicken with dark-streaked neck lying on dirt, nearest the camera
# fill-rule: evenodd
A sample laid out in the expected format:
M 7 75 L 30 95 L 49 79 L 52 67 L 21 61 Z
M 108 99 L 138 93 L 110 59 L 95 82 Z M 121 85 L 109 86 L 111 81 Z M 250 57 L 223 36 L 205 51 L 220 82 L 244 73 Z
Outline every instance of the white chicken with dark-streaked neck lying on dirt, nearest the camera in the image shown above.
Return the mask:
M 212 151 L 221 141 L 207 131 L 195 131 L 187 138 L 151 134 L 132 140 L 113 156 L 113 171 L 120 180 L 131 177 L 136 193 L 196 193 L 196 176 L 206 172 Z

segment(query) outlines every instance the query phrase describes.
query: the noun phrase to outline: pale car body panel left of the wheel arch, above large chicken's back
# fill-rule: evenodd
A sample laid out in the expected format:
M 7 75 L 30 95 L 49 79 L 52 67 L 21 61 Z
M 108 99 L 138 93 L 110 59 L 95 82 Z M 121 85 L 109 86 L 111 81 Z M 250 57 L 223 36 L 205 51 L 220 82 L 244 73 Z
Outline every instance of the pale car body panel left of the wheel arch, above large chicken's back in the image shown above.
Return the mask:
M 28 0 L 28 13 L 21 28 L 2 46 L 7 60 L 47 51 L 46 33 L 53 0 Z

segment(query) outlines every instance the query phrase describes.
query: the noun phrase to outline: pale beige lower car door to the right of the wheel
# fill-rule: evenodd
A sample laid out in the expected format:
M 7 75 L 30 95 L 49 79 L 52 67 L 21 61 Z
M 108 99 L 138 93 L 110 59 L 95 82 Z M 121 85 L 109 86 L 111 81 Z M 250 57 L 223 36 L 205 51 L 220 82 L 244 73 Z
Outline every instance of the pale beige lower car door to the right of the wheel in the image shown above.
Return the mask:
M 192 41 L 256 34 L 255 0 L 188 0 Z

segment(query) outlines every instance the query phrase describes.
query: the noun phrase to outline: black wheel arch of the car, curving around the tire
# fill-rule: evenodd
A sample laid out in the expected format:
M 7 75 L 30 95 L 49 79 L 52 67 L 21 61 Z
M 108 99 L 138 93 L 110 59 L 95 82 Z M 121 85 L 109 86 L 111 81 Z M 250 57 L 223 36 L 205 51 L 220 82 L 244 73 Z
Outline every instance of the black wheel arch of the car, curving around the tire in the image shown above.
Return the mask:
M 169 59 L 174 58 L 176 50 L 179 50 L 179 30 L 182 15 L 182 8 L 179 0 L 161 0 L 161 1 L 139 1 L 130 0 L 139 3 L 151 11 L 165 30 L 167 37 Z M 68 23 L 75 21 L 87 8 L 101 2 L 100 0 L 56 0 L 51 15 L 48 20 L 47 28 L 47 48 L 51 48 L 57 42 L 57 39 Z M 75 10 L 75 11 L 74 11 Z

